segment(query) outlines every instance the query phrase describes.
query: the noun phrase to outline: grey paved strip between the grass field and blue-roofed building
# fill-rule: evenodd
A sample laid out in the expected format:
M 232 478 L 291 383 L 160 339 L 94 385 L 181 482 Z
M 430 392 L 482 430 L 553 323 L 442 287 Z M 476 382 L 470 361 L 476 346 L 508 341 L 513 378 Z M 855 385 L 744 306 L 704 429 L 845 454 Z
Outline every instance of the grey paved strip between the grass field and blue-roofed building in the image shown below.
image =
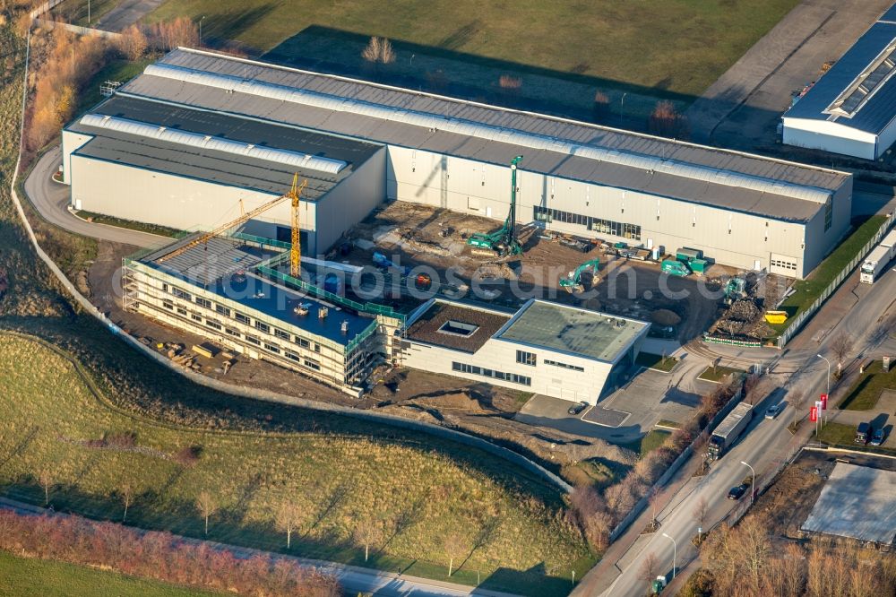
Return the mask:
M 769 145 L 792 91 L 818 79 L 892 0 L 804 0 L 687 110 L 694 140 L 737 149 Z

